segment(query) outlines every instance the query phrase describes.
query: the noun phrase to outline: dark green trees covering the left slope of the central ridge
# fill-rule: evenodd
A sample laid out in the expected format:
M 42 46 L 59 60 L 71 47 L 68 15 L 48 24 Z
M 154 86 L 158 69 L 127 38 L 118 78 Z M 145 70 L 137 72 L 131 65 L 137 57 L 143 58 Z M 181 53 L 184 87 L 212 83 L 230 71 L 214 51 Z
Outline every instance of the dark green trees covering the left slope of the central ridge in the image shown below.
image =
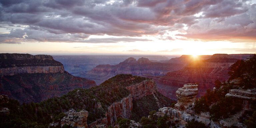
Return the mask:
M 75 110 L 85 109 L 89 112 L 87 122 L 94 122 L 104 117 L 107 107 L 120 101 L 130 93 L 125 88 L 131 84 L 139 83 L 148 78 L 132 75 L 116 75 L 99 86 L 90 89 L 76 89 L 61 97 L 54 97 L 40 103 L 19 104 L 17 100 L 10 99 L 8 103 L 0 104 L 0 107 L 10 109 L 9 115 L 0 116 L 0 127 L 48 127 L 53 120 L 59 120 L 63 112 L 71 108 Z M 100 102 L 102 108 L 97 108 Z M 51 118 L 53 117 L 53 118 Z

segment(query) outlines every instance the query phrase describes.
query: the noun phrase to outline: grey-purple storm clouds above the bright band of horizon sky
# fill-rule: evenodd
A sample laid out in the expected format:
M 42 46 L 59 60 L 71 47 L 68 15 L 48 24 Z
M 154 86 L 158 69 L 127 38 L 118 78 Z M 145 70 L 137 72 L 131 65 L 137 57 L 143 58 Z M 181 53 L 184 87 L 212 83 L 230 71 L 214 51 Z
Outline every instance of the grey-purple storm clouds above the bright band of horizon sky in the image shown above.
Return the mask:
M 140 37 L 167 31 L 186 32 L 179 36 L 188 39 L 255 39 L 255 6 L 247 0 L 1 0 L 1 24 L 29 27 L 10 28 L 0 41 L 88 42 L 90 35 Z M 91 43 L 97 41 L 111 42 Z

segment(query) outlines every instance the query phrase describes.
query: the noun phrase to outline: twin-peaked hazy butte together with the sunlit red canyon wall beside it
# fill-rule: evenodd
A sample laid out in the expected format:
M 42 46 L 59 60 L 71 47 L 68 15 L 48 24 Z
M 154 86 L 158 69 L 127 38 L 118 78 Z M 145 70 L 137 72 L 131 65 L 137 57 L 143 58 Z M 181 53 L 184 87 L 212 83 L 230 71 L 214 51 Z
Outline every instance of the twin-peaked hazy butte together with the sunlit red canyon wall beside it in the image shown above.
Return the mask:
M 225 81 L 228 72 L 237 60 L 246 59 L 252 54 L 214 54 L 182 55 L 168 61 L 150 61 L 147 58 L 128 58 L 117 65 L 98 65 L 82 73 L 83 77 L 102 83 L 117 74 L 133 74 L 152 78 L 157 83 L 159 92 L 175 99 L 175 91 L 186 83 L 199 83 L 199 95 L 214 87 L 215 80 Z

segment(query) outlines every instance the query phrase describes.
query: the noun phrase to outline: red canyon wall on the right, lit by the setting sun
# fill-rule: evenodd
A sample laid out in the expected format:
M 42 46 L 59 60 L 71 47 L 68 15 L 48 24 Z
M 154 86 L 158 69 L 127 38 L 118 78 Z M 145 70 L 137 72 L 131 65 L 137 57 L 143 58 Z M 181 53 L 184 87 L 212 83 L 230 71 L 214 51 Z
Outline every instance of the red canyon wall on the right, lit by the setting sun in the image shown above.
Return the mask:
M 229 78 L 229 67 L 238 59 L 227 58 L 228 54 L 214 54 L 210 59 L 189 63 L 185 68 L 168 72 L 165 76 L 153 78 L 160 93 L 176 99 L 175 91 L 186 83 L 198 83 L 199 96 L 207 89 L 214 87 L 214 81 L 225 81 Z

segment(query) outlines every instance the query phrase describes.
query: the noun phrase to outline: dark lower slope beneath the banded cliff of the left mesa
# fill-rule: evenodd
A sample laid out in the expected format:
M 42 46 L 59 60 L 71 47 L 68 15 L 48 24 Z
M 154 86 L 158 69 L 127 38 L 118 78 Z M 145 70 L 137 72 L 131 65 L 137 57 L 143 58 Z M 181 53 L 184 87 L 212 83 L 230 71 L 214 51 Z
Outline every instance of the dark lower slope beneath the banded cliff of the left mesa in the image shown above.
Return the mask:
M 0 77 L 0 91 L 8 90 L 20 102 L 40 102 L 52 93 L 62 95 L 72 88 L 90 88 L 94 81 L 64 73 L 23 73 Z M 58 90 L 57 90 L 58 89 Z M 65 92 L 65 93 L 64 93 Z M 59 93 L 59 94 L 58 94 Z M 47 95 L 42 97 L 42 95 Z M 56 96 L 55 95 L 55 96 Z

